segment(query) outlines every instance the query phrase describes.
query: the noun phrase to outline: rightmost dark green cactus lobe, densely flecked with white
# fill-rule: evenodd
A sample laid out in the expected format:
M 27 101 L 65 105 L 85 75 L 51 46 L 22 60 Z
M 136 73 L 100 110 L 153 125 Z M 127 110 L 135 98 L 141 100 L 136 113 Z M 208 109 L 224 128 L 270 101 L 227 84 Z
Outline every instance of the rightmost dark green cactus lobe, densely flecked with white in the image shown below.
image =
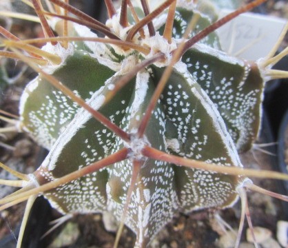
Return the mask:
M 188 50 L 182 61 L 216 105 L 238 152 L 251 149 L 260 126 L 265 84 L 258 65 L 201 45 Z

